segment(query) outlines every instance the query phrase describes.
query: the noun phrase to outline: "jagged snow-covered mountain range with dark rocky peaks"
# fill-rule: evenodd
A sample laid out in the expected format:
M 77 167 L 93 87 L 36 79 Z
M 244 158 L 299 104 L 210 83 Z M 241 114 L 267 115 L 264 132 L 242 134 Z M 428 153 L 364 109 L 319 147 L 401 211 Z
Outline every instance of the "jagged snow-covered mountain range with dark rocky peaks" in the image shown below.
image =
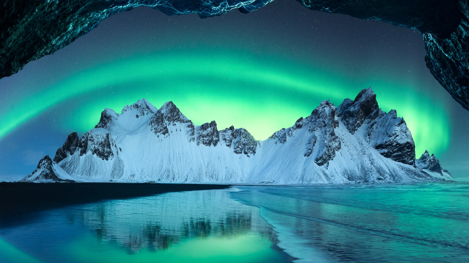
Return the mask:
M 121 114 L 105 109 L 94 129 L 76 132 L 53 160 L 22 181 L 157 183 L 383 183 L 453 180 L 415 145 L 396 111 L 379 109 L 371 88 L 338 108 L 323 101 L 308 117 L 257 141 L 243 128 L 193 124 L 173 102 L 146 99 Z

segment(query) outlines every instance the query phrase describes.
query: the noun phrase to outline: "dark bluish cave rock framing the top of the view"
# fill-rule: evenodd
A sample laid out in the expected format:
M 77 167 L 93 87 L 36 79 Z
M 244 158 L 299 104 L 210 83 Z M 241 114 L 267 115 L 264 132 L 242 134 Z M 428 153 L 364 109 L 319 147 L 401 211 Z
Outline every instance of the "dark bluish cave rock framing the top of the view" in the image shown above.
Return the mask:
M 298 0 L 321 12 L 378 19 L 414 28 L 423 36 L 427 66 L 441 85 L 468 110 L 468 0 Z M 166 15 L 249 13 L 272 0 L 5 0 L 0 11 L 0 78 L 52 54 L 83 36 L 110 15 L 147 6 Z M 100 126 L 102 127 L 102 126 Z M 103 127 L 104 128 L 104 127 Z

